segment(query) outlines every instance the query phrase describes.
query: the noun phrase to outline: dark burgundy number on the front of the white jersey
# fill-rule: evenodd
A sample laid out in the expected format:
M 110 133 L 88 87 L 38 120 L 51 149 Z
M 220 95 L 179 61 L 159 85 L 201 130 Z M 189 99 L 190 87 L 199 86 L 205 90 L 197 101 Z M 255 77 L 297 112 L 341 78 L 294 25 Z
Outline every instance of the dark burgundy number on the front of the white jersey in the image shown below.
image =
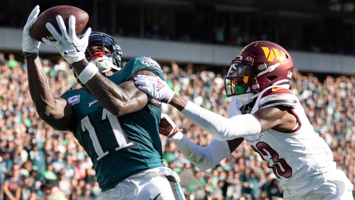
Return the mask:
M 292 176 L 292 168 L 287 164 L 286 160 L 279 158 L 279 154 L 271 148 L 270 145 L 265 142 L 258 142 L 255 146 L 256 148 L 254 146 L 251 146 L 251 148 L 257 152 L 263 160 L 268 162 L 268 167 L 272 168 L 277 178 L 280 178 L 280 176 L 285 178 Z M 273 163 L 265 159 L 265 157 L 271 157 Z

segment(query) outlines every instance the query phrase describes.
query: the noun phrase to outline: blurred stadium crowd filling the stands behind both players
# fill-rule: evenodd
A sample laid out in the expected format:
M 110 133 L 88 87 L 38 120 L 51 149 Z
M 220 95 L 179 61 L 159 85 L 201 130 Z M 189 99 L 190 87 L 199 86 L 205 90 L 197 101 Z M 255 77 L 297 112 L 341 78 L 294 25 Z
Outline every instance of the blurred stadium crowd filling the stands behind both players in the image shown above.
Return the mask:
M 68 63 L 42 59 L 55 95 L 75 79 Z M 229 98 L 226 68 L 196 71 L 192 64 L 163 65 L 165 80 L 182 96 L 227 117 Z M 221 70 L 222 69 L 222 70 Z M 71 132 L 55 131 L 36 114 L 28 91 L 26 63 L 0 53 L 0 199 L 44 198 L 45 188 L 58 186 L 68 200 L 94 200 L 100 192 L 89 157 Z M 326 76 L 294 72 L 292 91 L 306 109 L 316 132 L 331 147 L 338 167 L 355 182 L 355 76 Z M 173 107 L 163 104 L 184 134 L 204 146 L 213 138 Z M 179 173 L 189 200 L 277 200 L 282 189 L 270 168 L 243 142 L 232 156 L 213 169 L 201 171 L 162 137 L 165 164 Z M 52 184 L 48 184 L 48 180 Z M 53 184 L 54 182 L 54 184 Z M 10 195 L 11 194 L 11 195 Z M 15 198 L 13 198 L 13 197 Z M 11 198 L 9 198 L 11 197 Z M 17 198 L 16 198 L 17 197 Z

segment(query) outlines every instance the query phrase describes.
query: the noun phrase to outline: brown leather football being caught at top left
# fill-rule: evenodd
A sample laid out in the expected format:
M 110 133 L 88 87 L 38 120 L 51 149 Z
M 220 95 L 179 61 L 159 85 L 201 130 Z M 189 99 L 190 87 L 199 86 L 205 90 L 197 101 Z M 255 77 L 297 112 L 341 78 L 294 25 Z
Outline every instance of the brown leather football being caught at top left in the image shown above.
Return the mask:
M 42 38 L 46 38 L 48 40 L 55 40 L 48 29 L 46 28 L 46 23 L 51 23 L 58 33 L 61 33 L 56 16 L 61 15 L 63 21 L 68 29 L 69 17 L 73 15 L 75 17 L 75 33 L 79 35 L 85 28 L 86 24 L 89 21 L 89 15 L 84 10 L 71 6 L 71 5 L 58 5 L 51 7 L 44 12 L 42 12 L 35 24 L 32 26 L 30 30 L 30 35 L 32 38 L 38 41 L 42 41 Z

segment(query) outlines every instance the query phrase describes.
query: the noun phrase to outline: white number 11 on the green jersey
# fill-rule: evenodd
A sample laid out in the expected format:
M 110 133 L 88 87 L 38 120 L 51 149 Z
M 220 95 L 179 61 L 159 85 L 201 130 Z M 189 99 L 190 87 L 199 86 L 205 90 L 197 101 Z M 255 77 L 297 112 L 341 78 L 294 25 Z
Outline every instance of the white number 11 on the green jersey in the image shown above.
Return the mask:
M 118 147 L 116 147 L 114 149 L 115 151 L 118 151 L 118 150 L 124 149 L 124 148 L 129 148 L 129 147 L 135 145 L 135 142 L 129 141 L 127 139 L 117 117 L 112 115 L 106 109 L 103 109 L 103 114 L 102 114 L 101 120 L 106 120 L 106 119 L 108 120 L 108 122 L 112 128 L 112 132 L 113 132 L 116 142 L 118 144 Z M 109 153 L 108 151 L 104 152 L 103 148 L 101 147 L 99 139 L 98 139 L 96 131 L 95 131 L 95 128 L 91 124 L 89 116 L 85 116 L 81 120 L 81 129 L 83 132 L 87 131 L 89 133 L 90 139 L 93 143 L 93 147 L 94 147 L 95 152 L 98 156 L 97 160 L 102 159 L 104 156 L 106 156 Z

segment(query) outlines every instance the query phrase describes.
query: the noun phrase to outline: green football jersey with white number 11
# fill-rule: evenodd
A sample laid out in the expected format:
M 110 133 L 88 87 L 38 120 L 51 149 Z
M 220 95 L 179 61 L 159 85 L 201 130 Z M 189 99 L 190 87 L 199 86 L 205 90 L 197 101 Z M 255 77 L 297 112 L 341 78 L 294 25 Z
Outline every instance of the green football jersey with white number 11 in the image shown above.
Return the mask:
M 120 84 L 141 70 L 163 79 L 158 63 L 147 57 L 131 59 L 109 79 Z M 164 166 L 158 132 L 161 105 L 147 104 L 138 112 L 116 117 L 82 89 L 69 90 L 61 97 L 71 104 L 74 136 L 94 163 L 103 191 L 139 171 Z

